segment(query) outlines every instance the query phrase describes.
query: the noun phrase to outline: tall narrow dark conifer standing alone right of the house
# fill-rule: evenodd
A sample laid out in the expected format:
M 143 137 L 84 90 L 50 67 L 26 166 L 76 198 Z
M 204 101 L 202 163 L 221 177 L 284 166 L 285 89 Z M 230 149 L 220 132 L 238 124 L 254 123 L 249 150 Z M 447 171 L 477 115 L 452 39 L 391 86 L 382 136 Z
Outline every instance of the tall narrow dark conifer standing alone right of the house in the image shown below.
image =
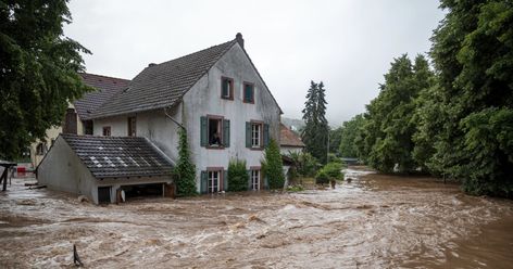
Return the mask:
M 323 164 L 327 162 L 327 140 L 329 136 L 326 104 L 326 89 L 324 89 L 323 81 L 320 84 L 311 81 L 302 111 L 305 126 L 301 137 L 306 152 L 310 152 Z

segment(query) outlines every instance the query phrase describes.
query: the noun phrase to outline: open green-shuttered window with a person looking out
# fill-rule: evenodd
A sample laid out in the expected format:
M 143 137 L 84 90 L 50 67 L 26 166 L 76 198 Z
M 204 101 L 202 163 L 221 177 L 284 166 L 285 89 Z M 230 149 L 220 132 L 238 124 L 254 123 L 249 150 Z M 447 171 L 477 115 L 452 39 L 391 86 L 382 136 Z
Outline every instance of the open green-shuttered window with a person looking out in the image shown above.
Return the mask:
M 229 146 L 229 120 L 222 116 L 201 117 L 201 146 L 224 149 Z

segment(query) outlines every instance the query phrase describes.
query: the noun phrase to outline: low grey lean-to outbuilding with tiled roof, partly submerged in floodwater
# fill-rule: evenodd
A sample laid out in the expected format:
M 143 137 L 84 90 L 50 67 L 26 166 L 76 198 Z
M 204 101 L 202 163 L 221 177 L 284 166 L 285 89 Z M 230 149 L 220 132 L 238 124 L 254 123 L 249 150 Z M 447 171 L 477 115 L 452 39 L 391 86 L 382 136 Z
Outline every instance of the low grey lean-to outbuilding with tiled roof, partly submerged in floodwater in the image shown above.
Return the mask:
M 93 203 L 173 196 L 173 162 L 141 137 L 60 134 L 37 168 L 39 184 Z

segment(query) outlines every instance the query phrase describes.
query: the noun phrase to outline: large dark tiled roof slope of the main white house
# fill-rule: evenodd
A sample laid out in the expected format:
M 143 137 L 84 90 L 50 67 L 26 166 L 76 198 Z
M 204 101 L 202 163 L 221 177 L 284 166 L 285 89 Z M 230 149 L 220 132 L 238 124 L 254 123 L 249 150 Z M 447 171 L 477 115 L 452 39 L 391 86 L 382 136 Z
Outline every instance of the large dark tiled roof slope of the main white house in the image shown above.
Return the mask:
M 129 87 L 95 113 L 107 117 L 172 106 L 235 44 L 234 39 L 168 62 L 146 67 Z

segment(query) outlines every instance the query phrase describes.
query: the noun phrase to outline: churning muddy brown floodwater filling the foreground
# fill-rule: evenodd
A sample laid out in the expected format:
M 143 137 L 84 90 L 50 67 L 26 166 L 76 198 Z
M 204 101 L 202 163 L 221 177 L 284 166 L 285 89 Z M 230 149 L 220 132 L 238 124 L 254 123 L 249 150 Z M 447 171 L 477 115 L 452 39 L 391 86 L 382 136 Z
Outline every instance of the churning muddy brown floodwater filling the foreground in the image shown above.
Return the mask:
M 0 268 L 512 268 L 513 203 L 431 178 L 349 169 L 350 183 L 95 206 L 0 193 Z

